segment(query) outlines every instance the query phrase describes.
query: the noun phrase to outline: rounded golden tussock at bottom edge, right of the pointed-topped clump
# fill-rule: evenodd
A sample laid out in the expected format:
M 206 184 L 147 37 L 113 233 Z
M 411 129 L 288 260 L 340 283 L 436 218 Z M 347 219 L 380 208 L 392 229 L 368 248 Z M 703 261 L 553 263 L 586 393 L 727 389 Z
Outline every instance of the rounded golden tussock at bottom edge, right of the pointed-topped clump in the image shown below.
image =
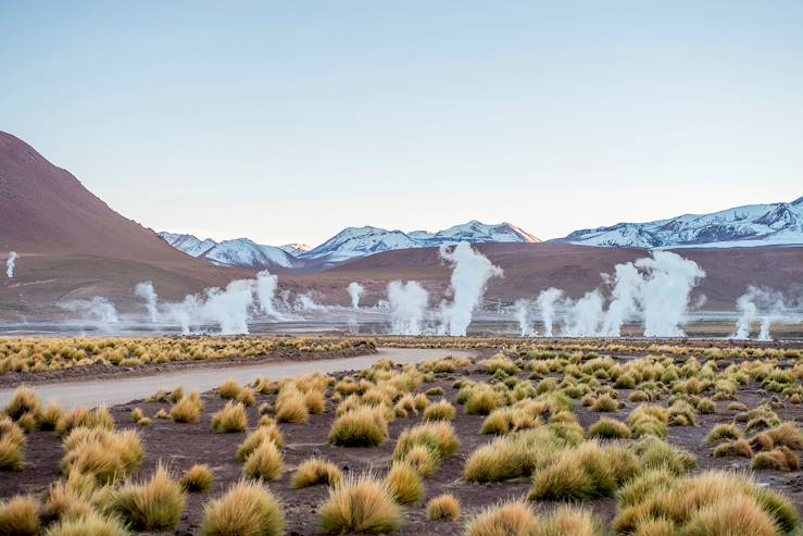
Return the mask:
M 285 534 L 285 512 L 279 501 L 259 483 L 240 482 L 226 495 L 203 508 L 203 536 Z

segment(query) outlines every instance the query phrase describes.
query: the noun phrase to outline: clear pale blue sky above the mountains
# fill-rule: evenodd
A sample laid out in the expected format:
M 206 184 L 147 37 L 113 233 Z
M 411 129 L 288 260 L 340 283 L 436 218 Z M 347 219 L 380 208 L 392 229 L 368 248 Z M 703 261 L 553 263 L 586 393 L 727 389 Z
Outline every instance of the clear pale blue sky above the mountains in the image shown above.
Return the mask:
M 156 230 L 540 238 L 803 196 L 803 2 L 0 0 L 0 130 Z

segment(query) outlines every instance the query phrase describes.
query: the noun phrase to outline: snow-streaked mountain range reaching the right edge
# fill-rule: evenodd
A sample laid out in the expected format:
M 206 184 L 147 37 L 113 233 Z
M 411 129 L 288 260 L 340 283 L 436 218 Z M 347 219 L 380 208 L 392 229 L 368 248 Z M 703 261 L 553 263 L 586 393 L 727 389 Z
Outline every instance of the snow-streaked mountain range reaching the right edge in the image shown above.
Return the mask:
M 748 204 L 711 214 L 575 230 L 561 241 L 616 248 L 803 245 L 803 197 L 790 203 Z

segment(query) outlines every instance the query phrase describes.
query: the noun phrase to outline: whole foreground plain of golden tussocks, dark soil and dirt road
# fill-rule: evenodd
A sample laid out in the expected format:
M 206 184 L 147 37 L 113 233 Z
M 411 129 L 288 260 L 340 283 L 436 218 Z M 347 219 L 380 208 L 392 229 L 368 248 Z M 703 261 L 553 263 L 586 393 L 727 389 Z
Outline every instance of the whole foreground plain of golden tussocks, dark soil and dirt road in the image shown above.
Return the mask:
M 0 371 L 1 534 L 801 531 L 795 342 L 7 338 Z

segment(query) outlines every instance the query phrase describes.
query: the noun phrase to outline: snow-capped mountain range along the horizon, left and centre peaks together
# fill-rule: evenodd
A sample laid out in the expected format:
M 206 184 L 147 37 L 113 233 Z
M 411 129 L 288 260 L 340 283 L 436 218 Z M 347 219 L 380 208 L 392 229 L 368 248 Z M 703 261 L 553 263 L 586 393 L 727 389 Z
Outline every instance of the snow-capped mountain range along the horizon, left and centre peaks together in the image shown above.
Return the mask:
M 275 266 L 285 269 L 326 267 L 382 251 L 432 248 L 460 241 L 470 244 L 529 244 L 540 241 L 535 236 L 509 223 L 487 225 L 474 220 L 437 233 L 426 230 L 404 233 L 368 225 L 347 227 L 321 246 L 312 249 L 303 244 L 287 244 L 279 247 L 261 246 L 248 238 L 217 244 L 209 238 L 201 240 L 192 235 L 167 232 L 162 232 L 159 236 L 176 249 L 180 249 L 192 257 L 206 259 L 224 266 L 249 269 Z M 227 245 L 226 250 L 221 251 L 221 247 L 224 245 Z

